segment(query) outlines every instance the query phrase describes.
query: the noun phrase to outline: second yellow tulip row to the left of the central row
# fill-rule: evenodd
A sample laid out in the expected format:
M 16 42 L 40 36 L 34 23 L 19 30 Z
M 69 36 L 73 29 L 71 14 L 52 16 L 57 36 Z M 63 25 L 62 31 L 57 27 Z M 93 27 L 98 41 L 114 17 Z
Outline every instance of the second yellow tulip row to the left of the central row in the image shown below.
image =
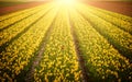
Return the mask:
M 26 27 L 29 27 L 29 26 L 31 27 L 32 24 L 34 24 L 34 22 L 37 22 L 37 20 L 40 20 L 52 8 L 52 7 L 48 7 L 48 5 L 46 5 L 44 8 L 43 7 L 40 8 L 38 10 L 41 10 L 41 11 L 38 11 L 34 15 L 31 15 L 31 16 L 20 21 L 19 23 L 15 23 L 15 24 L 11 25 L 9 28 L 3 30 L 0 33 L 0 39 L 1 39 L 0 46 L 2 44 L 7 43 L 7 42 L 10 42 L 10 39 L 12 39 L 14 36 L 16 36 L 19 33 L 21 33 Z

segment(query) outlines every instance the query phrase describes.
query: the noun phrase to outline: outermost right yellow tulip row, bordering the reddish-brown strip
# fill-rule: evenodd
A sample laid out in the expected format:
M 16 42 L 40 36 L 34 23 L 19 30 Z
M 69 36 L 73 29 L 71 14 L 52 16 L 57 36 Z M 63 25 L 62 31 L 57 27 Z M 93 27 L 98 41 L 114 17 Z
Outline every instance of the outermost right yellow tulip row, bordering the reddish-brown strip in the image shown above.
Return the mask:
M 106 14 L 103 11 L 101 11 L 95 7 L 89 5 L 89 7 L 85 7 L 85 8 L 86 8 L 85 10 L 89 11 L 90 13 L 94 13 L 94 14 L 98 15 L 99 17 L 117 25 L 121 30 L 124 30 L 125 32 L 129 32 L 130 34 L 132 34 L 132 23 L 131 23 L 132 17 L 130 17 L 131 20 L 128 20 L 128 19 L 122 20 L 121 17 L 116 17 L 110 14 Z M 122 17 L 124 17 L 124 16 L 122 16 Z

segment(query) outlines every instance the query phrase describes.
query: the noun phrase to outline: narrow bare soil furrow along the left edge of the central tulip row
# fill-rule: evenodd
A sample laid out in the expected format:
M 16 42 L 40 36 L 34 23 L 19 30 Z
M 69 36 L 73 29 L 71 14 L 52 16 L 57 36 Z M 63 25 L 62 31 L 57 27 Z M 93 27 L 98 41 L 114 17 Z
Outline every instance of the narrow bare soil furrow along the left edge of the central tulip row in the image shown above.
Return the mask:
M 54 17 L 52 24 L 50 25 L 50 28 L 46 31 L 46 33 L 44 35 L 44 38 L 43 38 L 43 40 L 41 43 L 41 46 L 40 46 L 40 50 L 37 51 L 37 55 L 36 55 L 35 59 L 32 62 L 30 71 L 26 73 L 25 82 L 33 82 L 34 81 L 35 68 L 38 66 L 41 59 L 43 58 L 43 52 L 44 52 L 44 49 L 45 49 L 45 46 L 46 46 L 46 42 L 47 42 L 47 39 L 48 39 L 48 37 L 50 37 L 51 33 L 52 33 L 55 20 L 56 20 L 56 16 Z

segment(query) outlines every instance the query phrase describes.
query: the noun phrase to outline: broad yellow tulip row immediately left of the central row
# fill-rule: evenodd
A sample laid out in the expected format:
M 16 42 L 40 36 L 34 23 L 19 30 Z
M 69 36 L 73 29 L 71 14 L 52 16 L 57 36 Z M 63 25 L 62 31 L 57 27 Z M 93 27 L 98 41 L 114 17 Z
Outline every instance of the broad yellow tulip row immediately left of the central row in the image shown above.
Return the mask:
M 45 10 L 43 10 L 45 11 Z M 0 54 L 0 81 L 15 81 L 37 50 L 57 9 L 50 11 Z M 44 13 L 42 13 L 44 14 Z M 40 14 L 41 15 L 41 14 Z M 34 19 L 34 17 L 32 17 Z M 46 21 L 46 22 L 45 22 Z

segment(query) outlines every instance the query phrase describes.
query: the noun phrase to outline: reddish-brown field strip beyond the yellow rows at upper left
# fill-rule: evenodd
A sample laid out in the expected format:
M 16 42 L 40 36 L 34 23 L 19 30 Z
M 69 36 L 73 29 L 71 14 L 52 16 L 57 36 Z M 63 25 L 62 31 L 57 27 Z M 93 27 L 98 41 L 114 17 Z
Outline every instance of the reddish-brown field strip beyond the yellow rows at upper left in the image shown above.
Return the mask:
M 14 11 L 33 8 L 33 7 L 36 7 L 40 4 L 44 4 L 44 3 L 46 3 L 46 2 L 29 2 L 29 3 L 24 3 L 24 4 L 16 4 L 16 5 L 11 5 L 11 7 L 0 8 L 0 15 L 8 14 L 8 13 L 11 13 Z

